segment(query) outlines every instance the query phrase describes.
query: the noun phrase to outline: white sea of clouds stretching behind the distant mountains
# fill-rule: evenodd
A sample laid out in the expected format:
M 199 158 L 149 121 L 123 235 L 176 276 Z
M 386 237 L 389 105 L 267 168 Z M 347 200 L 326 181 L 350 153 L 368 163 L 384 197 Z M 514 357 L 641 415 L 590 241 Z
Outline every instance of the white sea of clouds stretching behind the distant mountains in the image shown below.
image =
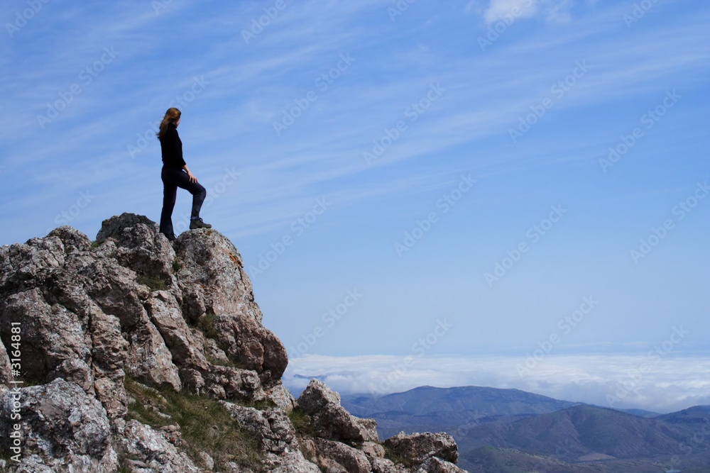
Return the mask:
M 710 404 L 709 356 L 556 355 L 524 368 L 525 359 L 505 356 L 305 355 L 289 360 L 283 382 L 295 396 L 317 378 L 341 394 L 491 386 L 657 413 Z

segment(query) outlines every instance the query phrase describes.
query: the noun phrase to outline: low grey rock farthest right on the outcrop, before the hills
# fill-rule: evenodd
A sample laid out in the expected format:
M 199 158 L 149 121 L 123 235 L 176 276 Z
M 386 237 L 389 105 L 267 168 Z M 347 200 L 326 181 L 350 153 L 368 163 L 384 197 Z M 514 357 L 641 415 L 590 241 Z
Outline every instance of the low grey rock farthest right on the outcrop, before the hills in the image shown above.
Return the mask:
M 411 435 L 400 432 L 385 440 L 384 445 L 414 464 L 423 463 L 430 457 L 439 457 L 452 463 L 459 460 L 459 451 L 454 438 L 443 432 Z

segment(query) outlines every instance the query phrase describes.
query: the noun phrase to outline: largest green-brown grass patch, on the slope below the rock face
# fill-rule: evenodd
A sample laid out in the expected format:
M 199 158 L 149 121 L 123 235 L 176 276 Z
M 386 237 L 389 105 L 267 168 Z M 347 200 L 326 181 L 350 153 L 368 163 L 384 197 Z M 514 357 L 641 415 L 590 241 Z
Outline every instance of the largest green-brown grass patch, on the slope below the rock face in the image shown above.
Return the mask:
M 197 456 L 202 451 L 214 459 L 216 469 L 231 461 L 255 472 L 263 471 L 261 441 L 255 434 L 242 430 L 218 401 L 172 389 L 158 391 L 128 377 L 126 394 L 136 399 L 129 404 L 126 418 L 153 428 L 178 423 L 182 433 L 180 448 L 195 464 L 202 464 Z

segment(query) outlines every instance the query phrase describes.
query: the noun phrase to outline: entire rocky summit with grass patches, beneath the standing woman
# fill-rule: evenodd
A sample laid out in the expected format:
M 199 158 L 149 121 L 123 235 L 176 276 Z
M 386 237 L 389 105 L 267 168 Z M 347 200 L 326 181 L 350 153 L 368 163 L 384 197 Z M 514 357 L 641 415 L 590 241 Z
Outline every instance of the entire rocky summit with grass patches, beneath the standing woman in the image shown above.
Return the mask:
M 444 433 L 381 442 L 265 328 L 236 247 L 124 213 L 0 247 L 0 470 L 461 472 Z

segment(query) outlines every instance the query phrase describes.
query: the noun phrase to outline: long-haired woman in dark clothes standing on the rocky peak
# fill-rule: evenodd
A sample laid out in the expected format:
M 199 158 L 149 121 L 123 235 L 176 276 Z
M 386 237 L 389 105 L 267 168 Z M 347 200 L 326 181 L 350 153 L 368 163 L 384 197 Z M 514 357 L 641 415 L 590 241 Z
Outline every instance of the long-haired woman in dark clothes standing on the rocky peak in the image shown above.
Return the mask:
M 163 233 L 170 241 L 175 240 L 173 208 L 175 208 L 178 187 L 186 189 L 192 194 L 190 230 L 212 228 L 200 218 L 200 208 L 202 208 L 204 197 L 207 196 L 207 191 L 197 183 L 197 177 L 190 172 L 190 169 L 187 169 L 185 160 L 182 159 L 182 141 L 178 136 L 180 115 L 181 112 L 178 108 L 168 108 L 163 121 L 160 122 L 160 131 L 158 132 L 160 148 L 163 150 L 163 171 L 160 173 L 163 177 L 163 213 L 160 214 L 160 233 Z

